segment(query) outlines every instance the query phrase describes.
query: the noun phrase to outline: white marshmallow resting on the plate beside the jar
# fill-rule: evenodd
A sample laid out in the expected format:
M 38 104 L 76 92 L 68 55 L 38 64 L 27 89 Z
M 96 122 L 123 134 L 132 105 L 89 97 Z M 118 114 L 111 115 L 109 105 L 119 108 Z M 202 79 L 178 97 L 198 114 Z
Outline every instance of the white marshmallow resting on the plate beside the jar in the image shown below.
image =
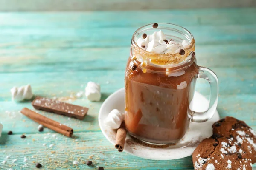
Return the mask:
M 110 127 L 111 129 L 118 129 L 121 126 L 124 118 L 124 113 L 120 112 L 117 109 L 113 109 L 108 114 L 108 117 L 105 119 L 105 125 Z

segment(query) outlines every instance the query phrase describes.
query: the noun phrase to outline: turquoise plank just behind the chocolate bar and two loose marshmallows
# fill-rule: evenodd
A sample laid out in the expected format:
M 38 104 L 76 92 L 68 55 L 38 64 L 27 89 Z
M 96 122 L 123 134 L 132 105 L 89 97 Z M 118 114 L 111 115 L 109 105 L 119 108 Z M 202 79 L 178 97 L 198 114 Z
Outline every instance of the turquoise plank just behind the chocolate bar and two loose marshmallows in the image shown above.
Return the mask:
M 256 68 L 213 68 L 219 78 L 221 95 L 256 94 Z M 108 96 L 119 88 L 124 87 L 124 71 L 69 71 L 69 72 L 24 72 L 0 74 L 0 101 L 10 99 L 10 88 L 30 84 L 34 93 L 39 96 L 54 97 L 76 94 L 84 90 L 81 85 L 88 81 L 99 82 L 104 96 Z M 67 81 L 68 80 L 68 81 Z M 3 83 L 4 82 L 4 83 Z M 56 91 L 58 89 L 58 91 Z M 207 81 L 198 81 L 198 89 L 208 94 Z

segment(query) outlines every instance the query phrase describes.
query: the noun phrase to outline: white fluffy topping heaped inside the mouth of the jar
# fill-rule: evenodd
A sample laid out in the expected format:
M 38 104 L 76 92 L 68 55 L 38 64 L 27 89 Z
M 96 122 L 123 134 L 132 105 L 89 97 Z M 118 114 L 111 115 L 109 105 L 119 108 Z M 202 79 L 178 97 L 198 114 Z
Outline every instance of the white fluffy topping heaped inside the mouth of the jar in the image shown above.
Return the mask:
M 182 43 L 175 40 L 167 40 L 162 30 L 155 31 L 153 34 L 147 35 L 145 38 L 141 37 L 136 41 L 136 43 L 138 46 L 145 48 L 146 51 L 157 54 L 175 54 L 180 50 L 188 48 L 190 45 L 187 40 L 183 40 Z

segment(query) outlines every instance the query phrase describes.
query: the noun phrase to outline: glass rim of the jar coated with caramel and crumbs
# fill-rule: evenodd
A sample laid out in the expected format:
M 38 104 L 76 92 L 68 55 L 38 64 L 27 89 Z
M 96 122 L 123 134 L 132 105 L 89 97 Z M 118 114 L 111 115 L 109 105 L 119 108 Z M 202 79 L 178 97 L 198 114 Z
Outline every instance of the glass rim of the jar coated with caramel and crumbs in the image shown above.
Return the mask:
M 145 26 L 138 28 L 132 35 L 132 39 L 131 39 L 132 48 L 134 48 L 135 53 L 141 54 L 140 56 L 144 57 L 144 59 L 149 58 L 151 60 L 153 59 L 153 61 L 157 61 L 157 62 L 161 61 L 163 62 L 161 65 L 174 64 L 175 66 L 175 64 L 181 64 L 181 62 L 183 62 L 187 57 L 189 57 L 190 54 L 192 54 L 192 52 L 195 51 L 195 40 L 191 32 L 182 26 L 178 26 L 172 23 L 158 23 L 157 29 L 175 31 L 178 34 L 183 35 L 190 43 L 189 47 L 185 50 L 186 54 L 180 55 L 178 52 L 175 54 L 156 54 L 154 52 L 146 51 L 145 49 L 137 45 L 135 41 L 135 37 L 138 34 L 141 34 L 143 31 L 153 30 L 153 29 L 156 29 L 156 28 L 152 27 L 152 23 L 147 24 Z

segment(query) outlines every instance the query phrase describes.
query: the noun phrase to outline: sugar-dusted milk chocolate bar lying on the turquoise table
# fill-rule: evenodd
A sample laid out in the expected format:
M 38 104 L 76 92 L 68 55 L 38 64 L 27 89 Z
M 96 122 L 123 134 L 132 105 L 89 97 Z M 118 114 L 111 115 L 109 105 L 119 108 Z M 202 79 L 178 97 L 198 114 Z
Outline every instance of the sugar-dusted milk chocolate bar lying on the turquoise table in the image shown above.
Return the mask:
M 72 105 L 65 102 L 60 102 L 55 99 L 48 99 L 44 97 L 37 97 L 33 100 L 32 105 L 35 109 L 52 112 L 68 117 L 74 117 L 80 120 L 84 119 L 88 108 L 78 105 Z

